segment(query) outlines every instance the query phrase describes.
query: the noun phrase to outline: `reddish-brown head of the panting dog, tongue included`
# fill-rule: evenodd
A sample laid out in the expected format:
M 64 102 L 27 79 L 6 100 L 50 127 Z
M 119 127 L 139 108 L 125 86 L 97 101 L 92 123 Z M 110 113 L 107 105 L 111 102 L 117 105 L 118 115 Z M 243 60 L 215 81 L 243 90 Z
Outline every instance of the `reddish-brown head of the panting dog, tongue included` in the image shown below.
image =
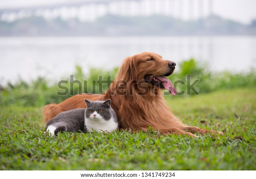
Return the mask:
M 123 61 L 119 69 L 119 79 L 137 81 L 140 88 L 167 89 L 172 95 L 176 94 L 171 81 L 165 76 L 169 76 L 175 69 L 175 62 L 163 60 L 163 58 L 151 52 L 143 52 Z

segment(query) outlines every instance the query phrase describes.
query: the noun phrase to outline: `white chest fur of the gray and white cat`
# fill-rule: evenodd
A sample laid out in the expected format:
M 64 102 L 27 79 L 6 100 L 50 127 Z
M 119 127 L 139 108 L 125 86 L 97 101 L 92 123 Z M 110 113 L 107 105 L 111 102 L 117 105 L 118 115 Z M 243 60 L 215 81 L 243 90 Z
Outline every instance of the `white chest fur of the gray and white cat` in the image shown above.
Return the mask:
M 88 130 L 88 132 L 93 132 L 93 130 L 97 132 L 112 132 L 113 130 L 116 130 L 118 127 L 118 124 L 114 121 L 113 117 L 106 121 L 103 118 L 99 119 L 92 119 L 92 118 L 86 118 L 85 119 L 85 126 Z

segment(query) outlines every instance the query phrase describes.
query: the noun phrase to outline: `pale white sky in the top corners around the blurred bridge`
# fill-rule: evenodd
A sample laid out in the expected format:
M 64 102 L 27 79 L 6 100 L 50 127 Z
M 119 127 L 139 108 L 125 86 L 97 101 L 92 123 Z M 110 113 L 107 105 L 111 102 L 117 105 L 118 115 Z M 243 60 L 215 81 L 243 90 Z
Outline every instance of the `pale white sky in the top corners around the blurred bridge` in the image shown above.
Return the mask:
M 83 0 L 1 0 L 0 9 L 72 3 Z M 186 1 L 186 0 L 184 0 Z M 198 1 L 198 0 L 194 0 Z M 189 9 L 189 7 L 188 7 Z M 213 13 L 221 17 L 250 23 L 256 19 L 256 0 L 213 0 Z

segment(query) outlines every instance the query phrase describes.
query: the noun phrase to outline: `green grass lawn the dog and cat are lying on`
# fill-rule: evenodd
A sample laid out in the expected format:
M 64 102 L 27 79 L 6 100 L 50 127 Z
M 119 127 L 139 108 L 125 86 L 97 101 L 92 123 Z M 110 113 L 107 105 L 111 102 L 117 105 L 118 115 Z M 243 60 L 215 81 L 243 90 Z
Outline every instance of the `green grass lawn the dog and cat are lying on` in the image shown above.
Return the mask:
M 42 107 L 0 109 L 0 170 L 256 170 L 256 88 L 166 97 L 189 125 L 223 136 L 44 133 Z

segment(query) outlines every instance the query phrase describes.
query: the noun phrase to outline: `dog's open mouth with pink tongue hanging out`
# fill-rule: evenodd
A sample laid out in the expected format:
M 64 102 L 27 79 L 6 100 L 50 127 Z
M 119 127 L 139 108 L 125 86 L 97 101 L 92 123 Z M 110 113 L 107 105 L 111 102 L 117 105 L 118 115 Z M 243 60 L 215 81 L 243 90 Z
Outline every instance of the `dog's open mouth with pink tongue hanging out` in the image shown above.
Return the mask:
M 173 86 L 172 82 L 164 76 L 145 75 L 144 80 L 147 83 L 157 85 L 160 89 L 169 90 L 172 95 L 176 95 L 177 90 Z

